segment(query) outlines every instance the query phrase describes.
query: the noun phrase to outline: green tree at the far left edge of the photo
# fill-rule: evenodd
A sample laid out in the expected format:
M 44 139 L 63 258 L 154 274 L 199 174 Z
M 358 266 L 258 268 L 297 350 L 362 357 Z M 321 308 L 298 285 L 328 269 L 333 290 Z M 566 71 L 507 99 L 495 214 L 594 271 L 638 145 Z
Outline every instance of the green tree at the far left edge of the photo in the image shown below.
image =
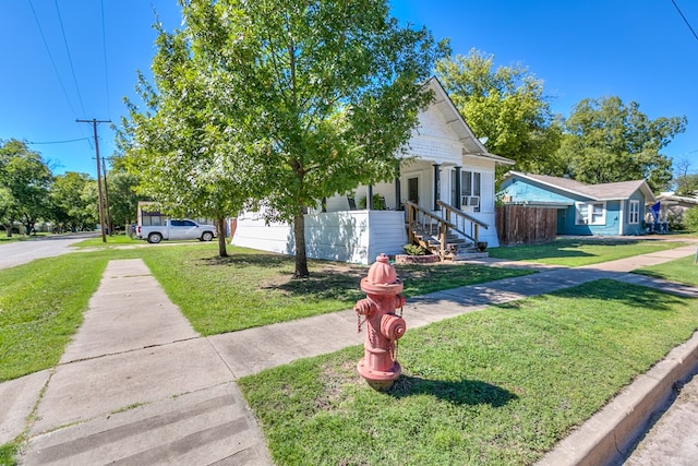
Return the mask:
M 0 181 L 5 189 L 3 207 L 12 236 L 12 224 L 21 220 L 29 234 L 40 217 L 49 214 L 49 188 L 53 177 L 38 152 L 11 139 L 0 146 Z

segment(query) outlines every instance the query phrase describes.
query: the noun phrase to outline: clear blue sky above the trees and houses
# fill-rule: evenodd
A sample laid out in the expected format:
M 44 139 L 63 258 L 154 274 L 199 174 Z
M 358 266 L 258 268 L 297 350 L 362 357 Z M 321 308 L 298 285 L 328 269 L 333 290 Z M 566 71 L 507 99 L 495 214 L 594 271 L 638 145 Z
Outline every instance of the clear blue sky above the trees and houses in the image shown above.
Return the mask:
M 674 1 L 698 33 L 698 2 Z M 392 5 L 401 21 L 450 38 L 454 53 L 477 48 L 497 65 L 524 64 L 565 117 L 582 98 L 611 95 L 652 119 L 685 115 L 687 131 L 663 153 L 698 171 L 698 39 L 672 0 Z M 123 97 L 139 101 L 136 70 L 147 73 L 155 52 L 154 11 L 168 29 L 180 25 L 176 0 L 0 1 L 0 139 L 35 143 L 56 174 L 95 176 L 92 124 L 75 120 L 120 124 Z M 111 155 L 113 131 L 98 132 L 100 155 Z

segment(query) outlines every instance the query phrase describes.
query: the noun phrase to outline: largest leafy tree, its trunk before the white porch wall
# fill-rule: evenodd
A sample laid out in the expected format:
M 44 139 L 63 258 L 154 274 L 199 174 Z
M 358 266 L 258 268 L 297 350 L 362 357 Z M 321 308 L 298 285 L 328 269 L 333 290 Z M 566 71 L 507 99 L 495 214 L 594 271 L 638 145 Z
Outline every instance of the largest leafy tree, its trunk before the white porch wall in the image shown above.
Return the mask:
M 192 2 L 193 5 L 194 2 Z M 401 27 L 385 0 L 197 2 L 193 27 L 225 29 L 225 62 L 268 134 L 265 215 L 293 224 L 294 277 L 309 275 L 304 208 L 359 183 L 394 179 L 397 152 L 431 95 L 443 56 Z

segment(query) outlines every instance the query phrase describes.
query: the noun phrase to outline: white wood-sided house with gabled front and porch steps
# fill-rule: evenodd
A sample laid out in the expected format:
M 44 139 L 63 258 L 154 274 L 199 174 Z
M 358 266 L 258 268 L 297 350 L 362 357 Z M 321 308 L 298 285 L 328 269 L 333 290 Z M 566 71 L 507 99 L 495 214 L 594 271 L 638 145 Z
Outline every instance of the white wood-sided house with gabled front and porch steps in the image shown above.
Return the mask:
M 442 254 L 452 241 L 446 235 L 466 243 L 498 246 L 494 169 L 514 160 L 488 152 L 438 80 L 432 77 L 426 86 L 434 100 L 419 115 L 399 177 L 390 183 L 359 186 L 353 196 L 329 198 L 325 212 L 320 205 L 310 210 L 305 216 L 309 258 L 371 264 L 381 253 L 401 253 L 408 238 L 414 239 L 425 227 L 435 243 L 441 239 Z M 376 205 L 373 200 L 378 200 Z M 371 208 L 383 207 L 377 204 L 385 210 Z M 266 225 L 261 215 L 243 213 L 232 243 L 293 254 L 293 228 Z

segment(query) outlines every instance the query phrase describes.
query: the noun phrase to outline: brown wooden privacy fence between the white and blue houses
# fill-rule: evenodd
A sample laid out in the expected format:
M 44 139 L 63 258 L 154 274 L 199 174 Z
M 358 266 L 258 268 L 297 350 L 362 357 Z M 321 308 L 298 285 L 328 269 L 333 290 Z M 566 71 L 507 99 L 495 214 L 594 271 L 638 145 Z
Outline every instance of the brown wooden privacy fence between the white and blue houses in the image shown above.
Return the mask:
M 557 211 L 526 205 L 500 205 L 495 208 L 500 244 L 537 244 L 555 241 Z

